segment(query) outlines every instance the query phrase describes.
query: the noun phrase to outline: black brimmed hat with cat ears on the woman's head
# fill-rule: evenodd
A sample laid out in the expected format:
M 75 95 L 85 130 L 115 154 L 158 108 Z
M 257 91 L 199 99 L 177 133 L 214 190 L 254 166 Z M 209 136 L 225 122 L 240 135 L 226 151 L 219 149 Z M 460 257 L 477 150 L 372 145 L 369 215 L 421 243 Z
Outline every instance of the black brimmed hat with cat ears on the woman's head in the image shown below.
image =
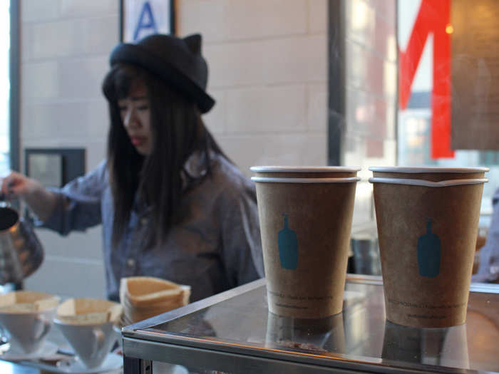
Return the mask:
M 185 38 L 153 34 L 137 43 L 120 43 L 110 54 L 110 66 L 131 63 L 163 79 L 207 113 L 215 100 L 206 93 L 208 66 L 201 56 L 201 35 Z

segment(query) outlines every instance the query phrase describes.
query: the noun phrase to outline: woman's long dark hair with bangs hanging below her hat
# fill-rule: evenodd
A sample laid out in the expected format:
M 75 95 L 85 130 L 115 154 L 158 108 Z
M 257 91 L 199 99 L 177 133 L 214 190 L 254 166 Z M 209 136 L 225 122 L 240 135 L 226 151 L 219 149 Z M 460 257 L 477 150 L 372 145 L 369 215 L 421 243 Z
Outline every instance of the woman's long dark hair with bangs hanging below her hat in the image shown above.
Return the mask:
M 140 155 L 130 142 L 120 118 L 118 100 L 126 98 L 130 88 L 141 82 L 148 90 L 150 131 L 153 141 L 150 155 Z M 187 157 L 199 150 L 205 157 L 210 175 L 210 150 L 222 150 L 202 122 L 195 103 L 168 88 L 163 80 L 129 64 L 114 66 L 103 81 L 108 99 L 108 171 L 114 200 L 113 246 L 125 232 L 135 195 L 152 209 L 147 246 L 164 241 L 175 219 L 182 194 L 182 170 Z

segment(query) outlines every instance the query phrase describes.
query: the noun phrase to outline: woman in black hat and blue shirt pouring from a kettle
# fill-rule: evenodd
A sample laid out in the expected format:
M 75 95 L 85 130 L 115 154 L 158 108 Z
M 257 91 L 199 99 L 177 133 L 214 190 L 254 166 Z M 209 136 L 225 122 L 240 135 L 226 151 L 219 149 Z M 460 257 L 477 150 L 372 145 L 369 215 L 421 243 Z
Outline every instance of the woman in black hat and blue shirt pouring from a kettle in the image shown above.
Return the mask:
M 111 300 L 127 276 L 188 284 L 191 301 L 262 277 L 254 187 L 202 123 L 201 36 L 120 43 L 110 66 L 107 160 L 62 189 L 12 172 L 3 192 L 63 235 L 102 223 Z

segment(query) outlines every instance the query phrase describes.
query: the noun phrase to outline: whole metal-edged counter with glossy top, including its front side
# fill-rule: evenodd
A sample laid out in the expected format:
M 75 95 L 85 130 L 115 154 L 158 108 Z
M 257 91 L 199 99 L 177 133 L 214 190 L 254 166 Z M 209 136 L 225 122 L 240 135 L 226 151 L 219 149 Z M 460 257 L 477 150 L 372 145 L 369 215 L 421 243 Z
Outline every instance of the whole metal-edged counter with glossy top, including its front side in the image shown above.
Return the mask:
M 322 320 L 267 310 L 264 279 L 123 328 L 125 373 L 152 361 L 191 373 L 499 372 L 499 286 L 472 284 L 465 325 L 386 321 L 380 276 L 347 276 L 344 311 Z

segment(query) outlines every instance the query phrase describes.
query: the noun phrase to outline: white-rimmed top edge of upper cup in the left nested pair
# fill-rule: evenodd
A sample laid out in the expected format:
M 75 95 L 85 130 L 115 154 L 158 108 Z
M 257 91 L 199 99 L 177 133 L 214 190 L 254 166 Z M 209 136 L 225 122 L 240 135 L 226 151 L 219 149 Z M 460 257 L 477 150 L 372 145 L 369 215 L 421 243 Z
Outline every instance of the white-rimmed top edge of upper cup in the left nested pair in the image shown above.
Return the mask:
M 356 177 L 360 167 L 346 166 L 252 166 L 257 177 L 270 178 L 349 178 Z

